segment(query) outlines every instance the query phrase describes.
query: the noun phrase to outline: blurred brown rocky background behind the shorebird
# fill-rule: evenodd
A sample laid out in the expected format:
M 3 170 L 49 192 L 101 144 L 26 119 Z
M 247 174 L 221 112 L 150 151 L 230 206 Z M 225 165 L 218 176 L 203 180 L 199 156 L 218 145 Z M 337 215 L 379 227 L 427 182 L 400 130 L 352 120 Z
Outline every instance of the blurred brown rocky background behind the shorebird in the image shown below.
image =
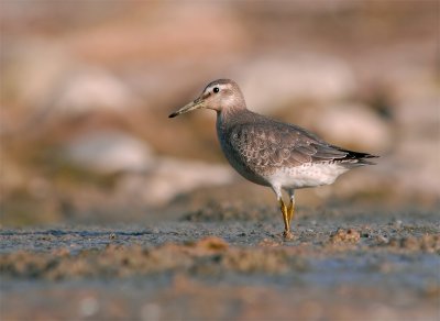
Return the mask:
M 439 208 L 438 1 L 0 2 L 1 225 L 134 222 L 268 204 L 223 158 L 211 80 L 248 107 L 381 155 L 304 207 Z

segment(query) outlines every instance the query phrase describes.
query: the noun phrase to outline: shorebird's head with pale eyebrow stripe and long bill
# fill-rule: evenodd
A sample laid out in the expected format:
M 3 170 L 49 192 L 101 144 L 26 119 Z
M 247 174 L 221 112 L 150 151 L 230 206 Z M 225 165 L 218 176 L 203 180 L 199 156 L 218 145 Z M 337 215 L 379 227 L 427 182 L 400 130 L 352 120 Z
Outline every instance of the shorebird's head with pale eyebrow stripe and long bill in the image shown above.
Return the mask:
M 173 112 L 169 118 L 196 109 L 212 109 L 217 112 L 226 112 L 231 109 L 244 108 L 246 108 L 246 104 L 239 85 L 230 79 L 219 79 L 210 82 L 196 100 Z

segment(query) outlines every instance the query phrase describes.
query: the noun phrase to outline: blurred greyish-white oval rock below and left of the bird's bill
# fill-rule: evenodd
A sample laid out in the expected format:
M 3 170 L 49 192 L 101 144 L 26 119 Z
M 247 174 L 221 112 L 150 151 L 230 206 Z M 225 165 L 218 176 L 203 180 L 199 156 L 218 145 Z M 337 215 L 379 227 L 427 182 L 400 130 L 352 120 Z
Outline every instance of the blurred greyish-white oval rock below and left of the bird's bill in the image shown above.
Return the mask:
M 67 145 L 65 157 L 101 174 L 144 171 L 153 164 L 152 152 L 145 142 L 118 131 L 80 136 Z

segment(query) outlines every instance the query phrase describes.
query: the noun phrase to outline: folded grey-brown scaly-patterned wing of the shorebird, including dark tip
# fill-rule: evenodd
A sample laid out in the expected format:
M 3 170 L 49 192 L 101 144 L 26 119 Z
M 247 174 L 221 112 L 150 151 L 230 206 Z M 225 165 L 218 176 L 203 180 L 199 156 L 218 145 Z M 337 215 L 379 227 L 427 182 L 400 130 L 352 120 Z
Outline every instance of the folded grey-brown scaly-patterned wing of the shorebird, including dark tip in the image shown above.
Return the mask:
M 231 145 L 251 167 L 321 162 L 369 164 L 363 158 L 372 157 L 330 145 L 299 126 L 279 122 L 250 122 L 234 126 Z

